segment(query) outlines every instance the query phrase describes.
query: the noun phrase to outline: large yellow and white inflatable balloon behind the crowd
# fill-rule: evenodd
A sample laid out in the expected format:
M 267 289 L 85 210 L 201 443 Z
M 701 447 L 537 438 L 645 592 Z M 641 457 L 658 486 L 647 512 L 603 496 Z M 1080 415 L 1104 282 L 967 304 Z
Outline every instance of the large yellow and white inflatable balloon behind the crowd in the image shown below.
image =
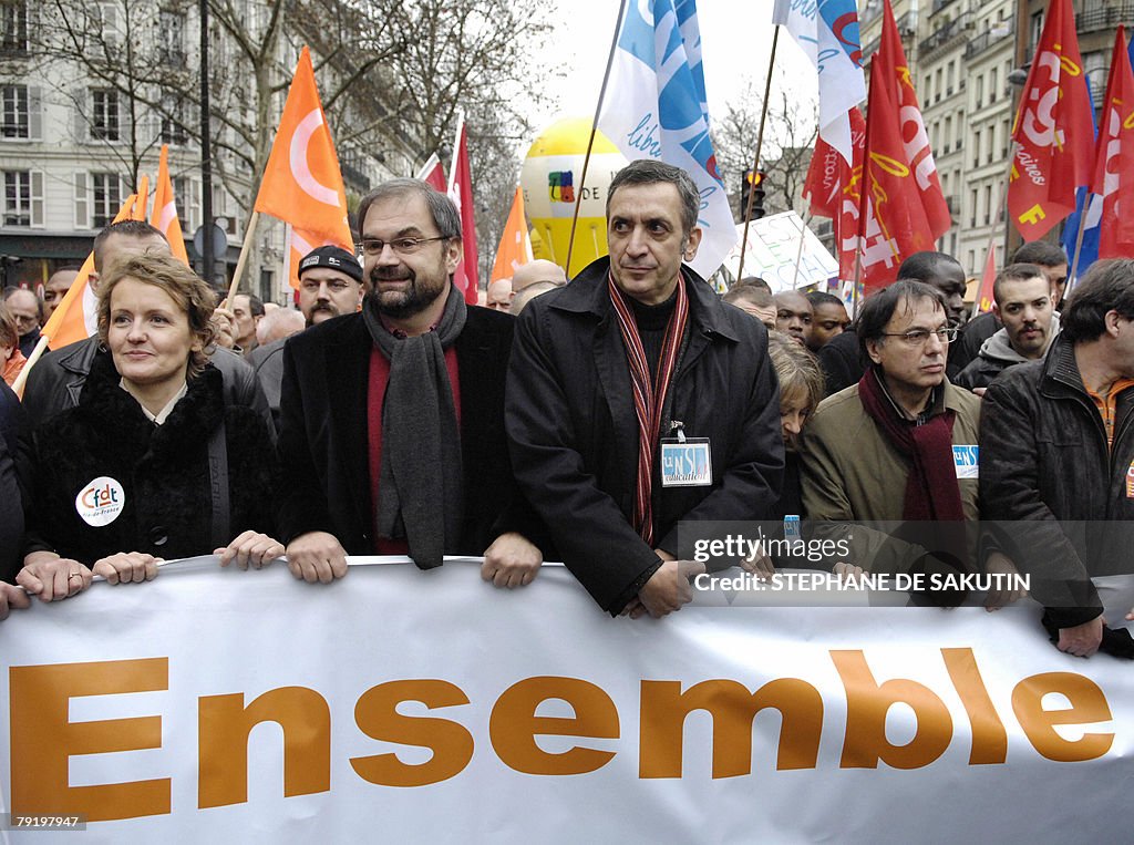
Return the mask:
M 618 147 L 596 133 L 586 184 L 579 192 L 590 137 L 590 118 L 556 121 L 532 144 L 521 174 L 524 206 L 534 229 L 532 252 L 538 259 L 566 265 L 572 216 L 576 200 L 581 201 L 568 278 L 607 254 L 607 188 L 613 175 L 627 164 Z

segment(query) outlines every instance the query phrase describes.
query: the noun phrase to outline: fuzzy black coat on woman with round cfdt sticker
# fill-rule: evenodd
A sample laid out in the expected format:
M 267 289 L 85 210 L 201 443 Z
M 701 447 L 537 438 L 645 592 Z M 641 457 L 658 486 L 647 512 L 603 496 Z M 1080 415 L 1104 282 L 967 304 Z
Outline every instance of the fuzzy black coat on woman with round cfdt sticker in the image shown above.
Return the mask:
M 212 496 L 209 439 L 225 423 L 229 476 L 229 534 L 276 534 L 276 455 L 268 426 L 248 407 L 225 404 L 221 374 L 212 365 L 189 381 L 164 424 L 151 422 L 119 387 L 107 352 L 92 362 L 78 407 L 42 423 L 20 476 L 25 502 L 25 554 L 52 549 L 93 564 L 120 551 L 166 559 L 211 554 Z M 121 512 L 103 526 L 87 524 L 76 502 L 95 479 L 117 481 Z

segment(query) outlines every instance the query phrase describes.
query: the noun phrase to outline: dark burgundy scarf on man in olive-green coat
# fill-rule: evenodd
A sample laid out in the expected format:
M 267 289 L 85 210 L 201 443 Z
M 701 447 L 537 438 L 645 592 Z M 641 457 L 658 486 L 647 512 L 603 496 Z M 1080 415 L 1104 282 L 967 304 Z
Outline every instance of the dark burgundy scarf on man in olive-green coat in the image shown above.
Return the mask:
M 917 425 L 900 417 L 882 390 L 873 367 L 858 382 L 862 407 L 903 456 L 909 458 L 902 518 L 928 522 L 964 519 L 960 485 L 953 462 L 954 412 L 946 411 Z

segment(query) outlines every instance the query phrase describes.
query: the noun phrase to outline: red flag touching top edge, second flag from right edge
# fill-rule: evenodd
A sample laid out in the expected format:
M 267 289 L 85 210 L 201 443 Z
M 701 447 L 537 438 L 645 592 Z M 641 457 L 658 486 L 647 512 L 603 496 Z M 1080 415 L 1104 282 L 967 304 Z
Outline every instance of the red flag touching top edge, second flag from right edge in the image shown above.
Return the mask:
M 1051 0 L 1012 130 L 1008 213 L 1024 240 L 1075 210 L 1094 161 L 1092 126 L 1070 0 Z

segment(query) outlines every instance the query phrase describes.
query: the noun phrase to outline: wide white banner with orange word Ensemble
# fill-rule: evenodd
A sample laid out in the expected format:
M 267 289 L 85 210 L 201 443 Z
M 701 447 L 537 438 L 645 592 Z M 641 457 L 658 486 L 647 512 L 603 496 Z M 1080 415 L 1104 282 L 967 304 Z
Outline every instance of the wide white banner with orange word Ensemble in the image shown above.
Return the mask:
M 611 619 L 456 563 L 36 602 L 0 624 L 0 810 L 91 820 L 0 839 L 1128 840 L 1129 664 L 1034 607 L 735 598 Z

